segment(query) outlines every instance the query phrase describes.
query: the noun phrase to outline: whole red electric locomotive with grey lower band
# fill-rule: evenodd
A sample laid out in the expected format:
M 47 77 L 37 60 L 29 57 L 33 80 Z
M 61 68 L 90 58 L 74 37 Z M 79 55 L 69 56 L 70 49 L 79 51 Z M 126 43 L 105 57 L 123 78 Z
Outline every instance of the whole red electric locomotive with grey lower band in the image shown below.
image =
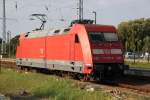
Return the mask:
M 71 72 L 84 78 L 101 79 L 127 68 L 115 27 L 91 23 L 21 34 L 16 59 L 19 67 Z

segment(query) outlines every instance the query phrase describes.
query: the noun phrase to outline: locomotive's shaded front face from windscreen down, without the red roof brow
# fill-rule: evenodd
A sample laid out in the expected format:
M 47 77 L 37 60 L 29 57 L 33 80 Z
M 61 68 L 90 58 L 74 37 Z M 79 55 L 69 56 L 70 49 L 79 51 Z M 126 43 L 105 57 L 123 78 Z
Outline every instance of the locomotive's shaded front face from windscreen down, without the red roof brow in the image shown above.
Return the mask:
M 124 63 L 122 46 L 116 33 L 89 32 L 89 38 L 95 68 L 97 65 L 107 66 L 106 69 L 112 70 L 116 69 L 115 66 L 120 65 L 122 69 Z

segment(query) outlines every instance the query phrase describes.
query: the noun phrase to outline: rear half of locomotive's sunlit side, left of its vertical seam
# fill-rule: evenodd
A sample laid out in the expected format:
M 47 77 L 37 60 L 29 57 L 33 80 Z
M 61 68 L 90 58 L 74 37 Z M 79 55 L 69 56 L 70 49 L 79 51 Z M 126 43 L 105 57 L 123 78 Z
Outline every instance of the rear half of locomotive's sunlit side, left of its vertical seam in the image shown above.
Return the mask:
M 45 37 L 26 38 L 22 34 L 16 53 L 16 64 L 45 68 Z

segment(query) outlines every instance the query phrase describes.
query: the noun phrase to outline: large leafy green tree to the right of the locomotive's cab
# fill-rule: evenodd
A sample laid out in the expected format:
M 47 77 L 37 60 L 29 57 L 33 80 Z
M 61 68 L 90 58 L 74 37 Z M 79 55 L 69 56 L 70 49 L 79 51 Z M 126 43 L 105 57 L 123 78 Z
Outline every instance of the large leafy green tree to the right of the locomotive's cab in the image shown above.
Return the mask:
M 126 51 L 145 51 L 147 44 L 150 44 L 144 40 L 150 37 L 150 18 L 121 22 L 118 25 L 118 35 Z

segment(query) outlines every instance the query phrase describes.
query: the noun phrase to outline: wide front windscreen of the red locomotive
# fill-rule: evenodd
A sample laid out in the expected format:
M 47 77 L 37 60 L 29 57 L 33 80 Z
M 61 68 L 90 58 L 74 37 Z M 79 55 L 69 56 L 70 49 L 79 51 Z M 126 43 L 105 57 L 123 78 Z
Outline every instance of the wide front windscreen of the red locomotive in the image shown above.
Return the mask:
M 89 32 L 89 38 L 92 42 L 118 41 L 116 33 Z

